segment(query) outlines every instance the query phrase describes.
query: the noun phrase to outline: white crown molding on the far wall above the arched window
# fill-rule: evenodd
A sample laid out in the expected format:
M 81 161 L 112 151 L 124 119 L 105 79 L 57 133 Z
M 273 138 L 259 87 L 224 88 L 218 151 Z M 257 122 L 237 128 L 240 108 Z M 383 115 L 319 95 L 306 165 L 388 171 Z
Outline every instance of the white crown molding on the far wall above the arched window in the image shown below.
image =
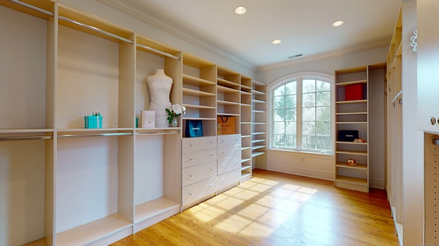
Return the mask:
M 265 66 L 258 66 L 257 67 L 257 72 L 262 72 L 262 71 L 266 71 L 266 70 L 273 70 L 276 68 L 283 68 L 285 66 L 293 66 L 295 64 L 301 64 L 304 62 L 309 62 L 309 61 L 313 61 L 316 59 L 325 59 L 325 58 L 329 58 L 329 57 L 335 57 L 335 56 L 340 56 L 340 55 L 346 55 L 348 53 L 354 53 L 354 52 L 358 52 L 358 51 L 366 51 L 368 49 L 375 49 L 375 48 L 379 48 L 382 46 L 389 46 L 390 45 L 390 41 L 389 40 L 381 40 L 378 42 L 374 42 L 371 44 L 364 44 L 361 46 L 355 46 L 355 47 L 349 47 L 346 49 L 339 49 L 339 50 L 335 50 L 335 51 L 329 51 L 326 53 L 319 53 L 316 55 L 309 55 L 309 56 L 305 56 L 305 57 L 298 57 L 298 58 L 294 58 L 292 60 L 289 61 L 281 61 L 275 64 L 268 64 Z

